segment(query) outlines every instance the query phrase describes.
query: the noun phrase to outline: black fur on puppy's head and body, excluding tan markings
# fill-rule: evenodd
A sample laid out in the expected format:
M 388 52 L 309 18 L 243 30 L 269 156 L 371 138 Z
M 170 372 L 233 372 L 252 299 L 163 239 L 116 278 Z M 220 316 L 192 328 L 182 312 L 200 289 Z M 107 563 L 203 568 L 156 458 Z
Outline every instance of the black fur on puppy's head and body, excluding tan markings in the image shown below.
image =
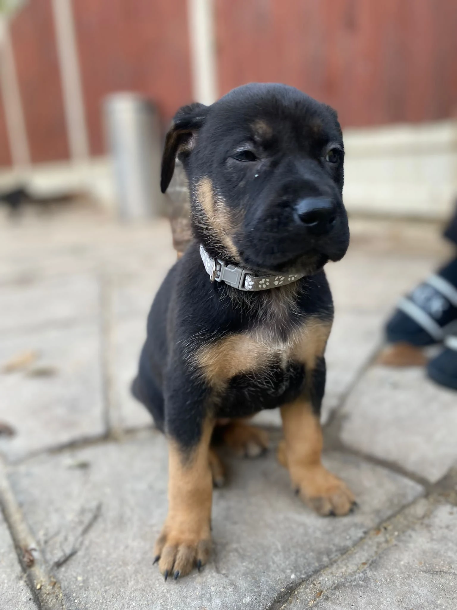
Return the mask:
M 335 148 L 337 162 L 325 160 L 330 148 Z M 241 157 L 247 159 L 241 160 L 240 149 L 252 155 L 243 152 Z M 322 267 L 344 256 L 349 229 L 342 204 L 344 149 L 336 113 L 292 87 L 245 85 L 210 107 L 181 109 L 166 139 L 163 190 L 177 154 L 189 179 L 196 239 L 169 271 L 152 304 L 133 393 L 151 411 L 158 428 L 185 449 L 199 440 L 208 412 L 219 417 L 250 415 L 303 392 L 319 412 L 323 357 L 311 371 L 278 360 L 267 370 L 236 375 L 221 394 L 205 382 L 194 356 L 202 346 L 260 326 L 284 341 L 310 317 L 331 321 L 333 304 Z M 199 201 L 203 178 L 213 190 L 214 218 L 208 218 Z M 306 197 L 333 201 L 335 221 L 325 235 L 310 234 L 297 220 L 297 201 Z M 233 221 L 226 234 L 235 253 L 216 230 L 221 210 L 225 220 L 228 215 Z M 254 273 L 306 271 L 306 276 L 292 289 L 257 293 L 211 283 L 199 243 L 211 256 Z M 282 294 L 283 305 L 275 307 Z

